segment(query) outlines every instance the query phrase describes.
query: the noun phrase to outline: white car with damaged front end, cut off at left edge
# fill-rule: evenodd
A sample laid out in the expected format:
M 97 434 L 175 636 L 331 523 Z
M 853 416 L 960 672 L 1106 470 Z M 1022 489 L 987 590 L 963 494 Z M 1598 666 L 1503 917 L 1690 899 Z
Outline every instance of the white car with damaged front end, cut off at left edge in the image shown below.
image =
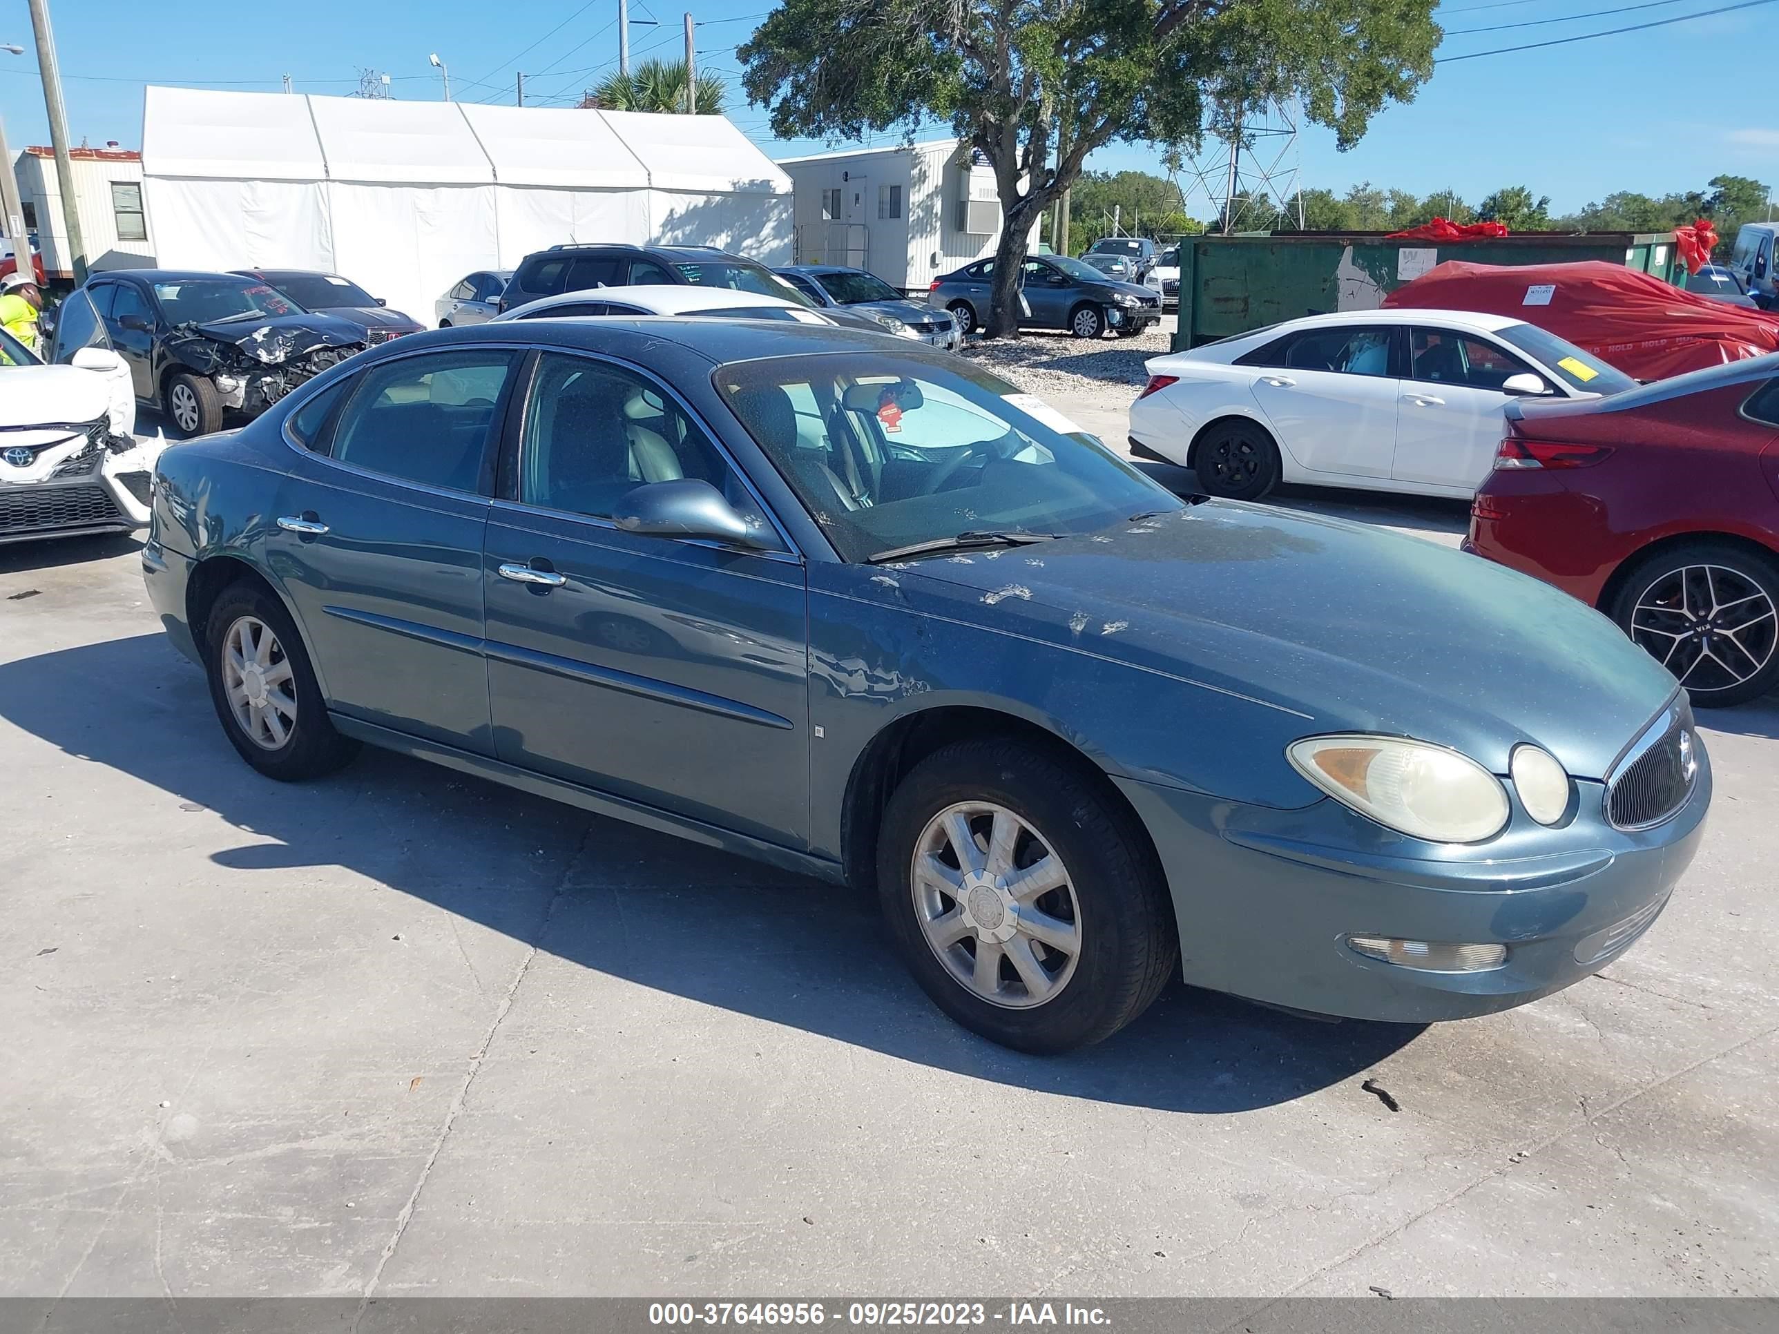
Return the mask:
M 139 441 L 130 370 L 84 347 L 48 366 L 0 333 L 0 544 L 148 523 L 162 441 Z

